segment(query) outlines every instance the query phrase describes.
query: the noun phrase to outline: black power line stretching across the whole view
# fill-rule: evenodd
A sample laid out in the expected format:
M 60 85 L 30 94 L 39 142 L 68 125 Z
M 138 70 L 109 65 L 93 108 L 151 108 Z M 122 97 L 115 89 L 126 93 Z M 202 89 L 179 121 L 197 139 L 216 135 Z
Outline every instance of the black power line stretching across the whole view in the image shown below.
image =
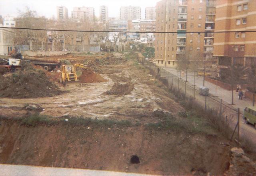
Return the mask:
M 36 29 L 36 28 L 14 28 L 0 27 L 5 29 L 20 29 L 20 30 L 37 30 L 37 31 L 63 31 L 63 32 L 118 32 L 118 33 L 154 33 L 154 34 L 180 34 L 180 33 L 234 33 L 234 32 L 256 32 L 256 31 L 182 31 L 182 32 L 134 32 L 134 31 L 90 31 L 90 30 L 56 30 L 56 29 Z

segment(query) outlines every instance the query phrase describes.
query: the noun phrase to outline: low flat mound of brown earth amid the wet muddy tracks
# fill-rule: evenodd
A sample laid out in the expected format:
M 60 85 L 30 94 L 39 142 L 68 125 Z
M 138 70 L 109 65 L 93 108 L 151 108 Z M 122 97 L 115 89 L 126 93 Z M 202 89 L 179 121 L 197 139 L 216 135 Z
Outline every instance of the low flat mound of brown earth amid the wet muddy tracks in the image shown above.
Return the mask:
M 109 91 L 106 91 L 106 95 L 127 95 L 133 90 L 133 88 L 134 85 L 131 83 L 114 83 L 113 87 Z

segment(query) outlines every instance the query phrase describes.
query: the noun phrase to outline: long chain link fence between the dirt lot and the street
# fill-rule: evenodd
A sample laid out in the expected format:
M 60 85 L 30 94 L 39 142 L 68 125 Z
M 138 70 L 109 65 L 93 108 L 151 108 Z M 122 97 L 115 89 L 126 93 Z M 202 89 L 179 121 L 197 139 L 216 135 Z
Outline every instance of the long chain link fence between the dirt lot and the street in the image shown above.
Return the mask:
M 256 141 L 253 140 L 255 133 L 251 129 L 246 127 L 246 124 L 242 124 L 241 117 L 243 111 L 236 109 L 229 105 L 227 102 L 223 101 L 219 97 L 216 97 L 209 93 L 208 96 L 200 95 L 200 87 L 193 85 L 180 77 L 166 71 L 165 69 L 156 66 L 154 63 L 138 57 L 138 61 L 150 70 L 150 73 L 156 76 L 157 79 L 162 81 L 170 91 L 176 91 L 179 93 L 184 100 L 190 100 L 192 103 L 199 105 L 203 111 L 205 111 L 205 118 L 208 118 L 206 112 L 212 112 L 214 117 L 217 117 L 219 123 L 226 123 L 228 127 L 232 129 L 232 132 L 229 132 L 228 136 L 232 139 L 233 135 L 236 136 L 236 141 L 239 141 L 240 138 L 246 138 L 246 140 L 252 141 L 256 144 Z M 240 126 L 243 127 L 240 127 Z M 254 129 L 253 129 L 254 130 Z M 237 131 L 238 133 L 235 133 Z M 233 135 L 232 135 L 233 134 Z

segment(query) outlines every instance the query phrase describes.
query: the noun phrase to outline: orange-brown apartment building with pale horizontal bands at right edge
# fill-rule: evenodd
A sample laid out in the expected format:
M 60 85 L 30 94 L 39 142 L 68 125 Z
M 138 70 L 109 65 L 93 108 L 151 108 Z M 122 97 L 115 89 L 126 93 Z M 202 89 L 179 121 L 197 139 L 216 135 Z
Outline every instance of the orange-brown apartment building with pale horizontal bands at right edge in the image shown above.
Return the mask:
M 216 31 L 237 31 L 215 34 L 214 56 L 218 57 L 220 67 L 256 63 L 256 35 L 247 32 L 256 29 L 255 19 L 255 0 L 217 0 Z

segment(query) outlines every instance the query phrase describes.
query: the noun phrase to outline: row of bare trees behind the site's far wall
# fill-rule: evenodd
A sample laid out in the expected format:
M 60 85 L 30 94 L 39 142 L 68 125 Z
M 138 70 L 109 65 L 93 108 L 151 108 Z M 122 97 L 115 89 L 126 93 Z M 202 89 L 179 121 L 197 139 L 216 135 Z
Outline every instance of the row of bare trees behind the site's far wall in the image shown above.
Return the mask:
M 80 43 L 82 50 L 85 50 L 84 46 L 88 45 L 90 48 L 90 40 L 94 39 L 98 43 L 107 34 L 92 32 L 69 32 L 69 31 L 54 31 L 54 30 L 81 30 L 81 31 L 94 31 L 102 30 L 103 26 L 100 26 L 97 21 L 81 20 L 80 22 L 74 22 L 71 20 L 56 21 L 48 20 L 45 17 L 37 15 L 36 11 L 30 10 L 28 7 L 25 12 L 19 11 L 19 16 L 16 18 L 16 27 L 19 28 L 36 28 L 43 30 L 24 30 L 16 29 L 15 43 L 22 45 L 29 45 L 30 50 L 35 50 L 33 44 L 41 44 L 41 50 L 46 49 L 47 43 L 52 43 L 51 50 L 55 50 L 55 45 L 62 40 L 62 50 L 66 49 L 66 44 L 71 46 Z M 45 31 L 50 29 L 51 31 Z

